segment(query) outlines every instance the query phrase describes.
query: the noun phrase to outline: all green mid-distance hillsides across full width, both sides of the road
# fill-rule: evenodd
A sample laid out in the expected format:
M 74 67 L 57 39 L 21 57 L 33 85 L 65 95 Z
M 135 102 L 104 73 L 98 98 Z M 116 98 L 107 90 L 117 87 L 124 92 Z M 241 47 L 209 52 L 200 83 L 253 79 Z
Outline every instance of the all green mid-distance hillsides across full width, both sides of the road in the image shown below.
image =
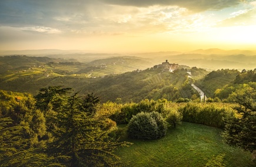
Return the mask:
M 229 98 L 232 93 L 238 89 L 245 91 L 245 87 L 254 89 L 256 81 L 252 70 L 218 69 L 209 72 L 186 65 L 179 65 L 172 72 L 157 66 L 143 70 L 151 62 L 132 56 L 98 59 L 87 64 L 74 59 L 2 56 L 0 63 L 0 88 L 3 90 L 35 95 L 40 88 L 64 85 L 82 95 L 94 92 L 102 102 L 162 98 L 173 102 L 184 101 L 182 99 L 199 101 L 200 96 L 192 88 L 192 83 L 215 102 L 232 102 L 234 98 Z

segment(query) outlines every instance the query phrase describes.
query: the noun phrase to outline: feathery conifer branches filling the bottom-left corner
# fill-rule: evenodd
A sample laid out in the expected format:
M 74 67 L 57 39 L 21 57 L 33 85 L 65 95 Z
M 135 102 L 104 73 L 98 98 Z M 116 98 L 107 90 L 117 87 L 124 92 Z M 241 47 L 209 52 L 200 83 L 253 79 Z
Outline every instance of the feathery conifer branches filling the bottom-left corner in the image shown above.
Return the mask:
M 0 166 L 64 166 L 59 161 L 67 161 L 67 156 L 54 158 L 29 146 L 24 130 L 24 126 L 13 125 L 11 118 L 0 118 Z

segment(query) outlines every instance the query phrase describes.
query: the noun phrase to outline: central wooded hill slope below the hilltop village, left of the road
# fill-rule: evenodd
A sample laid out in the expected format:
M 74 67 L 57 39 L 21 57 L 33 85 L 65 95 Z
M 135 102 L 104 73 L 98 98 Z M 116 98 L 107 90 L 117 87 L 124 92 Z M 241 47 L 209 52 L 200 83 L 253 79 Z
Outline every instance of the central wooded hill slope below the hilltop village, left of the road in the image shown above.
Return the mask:
M 179 98 L 197 98 L 197 92 L 190 86 L 187 71 L 177 69 L 173 73 L 161 69 L 127 72 L 117 76 L 106 76 L 82 87 L 82 92 L 97 93 L 103 101 L 138 102 L 142 99 L 177 101 Z

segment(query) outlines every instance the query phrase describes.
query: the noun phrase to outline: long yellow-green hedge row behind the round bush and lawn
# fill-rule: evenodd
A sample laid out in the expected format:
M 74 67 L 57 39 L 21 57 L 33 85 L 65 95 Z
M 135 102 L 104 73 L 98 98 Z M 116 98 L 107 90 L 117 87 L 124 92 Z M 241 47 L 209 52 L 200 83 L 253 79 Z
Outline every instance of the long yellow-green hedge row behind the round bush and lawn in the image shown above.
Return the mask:
M 100 111 L 110 113 L 109 118 L 118 124 L 129 123 L 132 116 L 139 112 L 156 111 L 168 119 L 170 115 L 177 116 L 173 118 L 177 122 L 171 122 L 171 125 L 179 121 L 200 123 L 202 125 L 224 128 L 224 118 L 235 115 L 233 103 L 172 103 L 164 100 L 149 101 L 144 99 L 138 103 L 116 103 L 107 102 L 102 104 Z

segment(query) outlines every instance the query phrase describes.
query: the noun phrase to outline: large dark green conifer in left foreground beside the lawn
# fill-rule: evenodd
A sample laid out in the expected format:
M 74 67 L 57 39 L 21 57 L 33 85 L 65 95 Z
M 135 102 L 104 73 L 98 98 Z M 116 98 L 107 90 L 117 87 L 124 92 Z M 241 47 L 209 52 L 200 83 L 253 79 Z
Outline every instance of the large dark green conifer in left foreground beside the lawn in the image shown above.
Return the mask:
M 67 93 L 57 101 L 37 98 L 51 106 L 52 112 L 46 116 L 46 120 L 51 122 L 48 131 L 53 139 L 48 145 L 48 153 L 69 156 L 68 166 L 118 166 L 121 163 L 113 152 L 128 142 L 109 138 L 108 134 L 115 129 L 116 123 L 97 113 L 98 97 L 89 94 L 81 98 L 78 93 L 72 96 Z

